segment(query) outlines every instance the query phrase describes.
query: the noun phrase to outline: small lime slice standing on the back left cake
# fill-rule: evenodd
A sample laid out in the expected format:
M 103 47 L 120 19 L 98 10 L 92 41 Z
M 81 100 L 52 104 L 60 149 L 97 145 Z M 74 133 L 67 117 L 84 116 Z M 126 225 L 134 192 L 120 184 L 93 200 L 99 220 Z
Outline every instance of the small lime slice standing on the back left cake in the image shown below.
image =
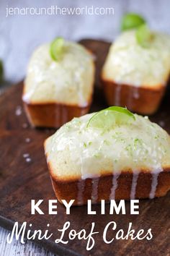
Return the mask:
M 55 38 L 55 40 L 50 44 L 50 56 L 54 61 L 61 59 L 63 55 L 63 45 L 63 38 Z

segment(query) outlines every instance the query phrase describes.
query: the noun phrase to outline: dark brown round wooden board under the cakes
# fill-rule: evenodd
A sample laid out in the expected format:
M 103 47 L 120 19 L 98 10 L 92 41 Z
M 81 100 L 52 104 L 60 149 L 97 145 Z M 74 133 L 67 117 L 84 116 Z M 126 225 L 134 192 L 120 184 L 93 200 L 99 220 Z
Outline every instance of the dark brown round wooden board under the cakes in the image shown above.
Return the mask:
M 99 40 L 82 40 L 87 48 L 97 55 L 97 82 L 94 93 L 94 103 L 91 111 L 106 107 L 102 90 L 99 85 L 99 72 L 107 54 L 109 43 Z M 130 216 L 130 203 L 126 202 L 126 215 L 109 215 L 109 205 L 106 214 L 100 214 L 100 206 L 94 205 L 97 215 L 88 216 L 86 206 L 71 208 L 71 215 L 66 215 L 65 208 L 58 203 L 58 215 L 48 215 L 48 200 L 55 199 L 45 161 L 43 142 L 52 135 L 54 129 L 32 129 L 22 108 L 22 82 L 6 90 L 0 97 L 0 225 L 12 229 L 14 221 L 32 223 L 32 231 L 45 231 L 50 223 L 53 236 L 42 240 L 42 246 L 48 247 L 58 255 L 170 255 L 170 194 L 154 200 L 140 200 L 140 214 Z M 170 133 L 170 93 L 166 97 L 158 113 L 151 116 L 152 121 L 161 124 Z M 27 158 L 24 158 L 24 154 Z M 42 210 L 45 215 L 30 214 L 30 200 L 44 200 Z M 94 248 L 87 252 L 86 241 L 71 240 L 68 244 L 55 244 L 59 238 L 58 229 L 66 221 L 71 222 L 71 229 L 89 231 L 91 223 L 95 222 Z M 133 229 L 152 229 L 153 239 L 147 240 L 114 240 L 105 244 L 102 231 L 109 221 L 117 223 L 117 230 L 127 231 L 128 223 L 133 223 Z M 108 232 L 108 238 L 115 236 L 115 231 Z

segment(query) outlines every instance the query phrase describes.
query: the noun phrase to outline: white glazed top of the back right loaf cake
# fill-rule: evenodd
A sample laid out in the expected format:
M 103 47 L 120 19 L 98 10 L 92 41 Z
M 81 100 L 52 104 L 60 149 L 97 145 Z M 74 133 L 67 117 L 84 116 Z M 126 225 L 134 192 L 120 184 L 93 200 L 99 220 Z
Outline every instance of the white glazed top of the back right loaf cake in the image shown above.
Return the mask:
M 135 30 L 128 30 L 112 43 L 102 73 L 106 80 L 153 88 L 169 76 L 170 36 L 154 33 L 150 48 L 140 47 Z

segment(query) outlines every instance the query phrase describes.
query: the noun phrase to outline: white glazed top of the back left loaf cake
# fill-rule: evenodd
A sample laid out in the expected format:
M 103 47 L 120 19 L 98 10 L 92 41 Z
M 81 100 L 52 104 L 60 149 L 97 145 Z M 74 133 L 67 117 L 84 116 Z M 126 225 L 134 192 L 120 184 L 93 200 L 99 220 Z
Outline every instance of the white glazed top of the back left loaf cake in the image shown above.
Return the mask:
M 67 51 L 60 61 L 50 58 L 50 44 L 39 46 L 30 59 L 24 81 L 23 101 L 58 102 L 86 106 L 94 80 L 89 51 L 65 40 Z

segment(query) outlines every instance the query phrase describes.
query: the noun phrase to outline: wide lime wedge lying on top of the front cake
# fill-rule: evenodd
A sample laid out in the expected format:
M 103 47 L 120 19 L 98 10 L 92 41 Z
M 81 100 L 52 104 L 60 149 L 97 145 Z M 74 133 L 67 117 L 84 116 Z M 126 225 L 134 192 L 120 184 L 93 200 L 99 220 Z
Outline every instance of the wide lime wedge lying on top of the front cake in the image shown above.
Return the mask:
M 87 127 L 112 129 L 117 124 L 129 124 L 134 120 L 135 116 L 127 108 L 112 106 L 91 116 Z

